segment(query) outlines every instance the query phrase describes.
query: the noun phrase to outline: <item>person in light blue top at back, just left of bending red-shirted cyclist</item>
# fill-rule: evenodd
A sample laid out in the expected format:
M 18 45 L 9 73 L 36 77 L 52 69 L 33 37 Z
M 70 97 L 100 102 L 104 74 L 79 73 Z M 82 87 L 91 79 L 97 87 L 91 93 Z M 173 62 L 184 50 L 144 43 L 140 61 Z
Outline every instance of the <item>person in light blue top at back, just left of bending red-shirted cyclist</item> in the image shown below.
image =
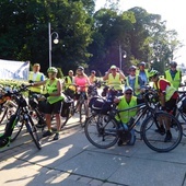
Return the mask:
M 149 83 L 149 70 L 146 69 L 146 62 L 141 61 L 139 65 L 139 70 L 137 70 L 136 74 L 141 77 L 141 80 L 143 81 L 143 84 Z

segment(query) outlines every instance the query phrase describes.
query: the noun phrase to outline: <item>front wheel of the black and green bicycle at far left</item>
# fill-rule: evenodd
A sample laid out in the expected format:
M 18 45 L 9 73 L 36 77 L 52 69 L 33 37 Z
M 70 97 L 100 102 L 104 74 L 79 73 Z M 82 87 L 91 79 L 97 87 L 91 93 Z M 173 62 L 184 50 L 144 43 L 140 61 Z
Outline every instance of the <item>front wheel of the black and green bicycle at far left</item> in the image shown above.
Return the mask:
M 38 138 L 38 135 L 37 135 L 37 128 L 34 125 L 30 115 L 28 115 L 28 121 L 26 123 L 26 128 L 27 128 L 27 131 L 30 132 L 35 146 L 37 147 L 38 150 L 40 150 L 42 144 L 40 144 L 40 141 L 39 141 L 39 138 Z

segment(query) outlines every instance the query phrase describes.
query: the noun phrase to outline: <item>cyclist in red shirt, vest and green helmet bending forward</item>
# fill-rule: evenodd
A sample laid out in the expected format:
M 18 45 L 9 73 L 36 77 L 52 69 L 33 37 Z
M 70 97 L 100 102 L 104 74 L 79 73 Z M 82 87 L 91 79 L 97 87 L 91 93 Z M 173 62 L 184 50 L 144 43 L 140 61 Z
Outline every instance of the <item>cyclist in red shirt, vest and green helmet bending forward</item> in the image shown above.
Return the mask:
M 173 113 L 174 115 L 175 114 L 174 112 L 176 108 L 176 101 L 178 97 L 178 93 L 176 89 L 167 80 L 161 79 L 156 70 L 151 70 L 149 72 L 149 78 L 154 83 L 154 88 L 159 91 L 159 100 L 161 103 L 162 111 L 166 111 L 167 113 Z M 171 120 L 167 121 L 167 124 L 165 124 L 166 136 L 165 136 L 164 142 L 168 142 L 172 140 L 170 124 L 171 124 Z M 155 131 L 161 135 L 164 135 L 165 128 L 163 125 L 161 125 L 161 128 L 156 129 Z

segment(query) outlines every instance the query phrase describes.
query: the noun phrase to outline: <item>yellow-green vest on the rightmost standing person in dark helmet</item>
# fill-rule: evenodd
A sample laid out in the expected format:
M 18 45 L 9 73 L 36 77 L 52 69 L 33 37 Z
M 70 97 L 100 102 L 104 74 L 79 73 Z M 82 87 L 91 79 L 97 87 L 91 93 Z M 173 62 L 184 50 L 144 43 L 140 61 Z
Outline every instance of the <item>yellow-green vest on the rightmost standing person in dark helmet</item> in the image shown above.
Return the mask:
M 177 70 L 174 79 L 172 78 L 170 70 L 165 71 L 165 75 L 166 75 L 166 80 L 170 81 L 176 90 L 178 90 L 181 84 L 181 71 Z

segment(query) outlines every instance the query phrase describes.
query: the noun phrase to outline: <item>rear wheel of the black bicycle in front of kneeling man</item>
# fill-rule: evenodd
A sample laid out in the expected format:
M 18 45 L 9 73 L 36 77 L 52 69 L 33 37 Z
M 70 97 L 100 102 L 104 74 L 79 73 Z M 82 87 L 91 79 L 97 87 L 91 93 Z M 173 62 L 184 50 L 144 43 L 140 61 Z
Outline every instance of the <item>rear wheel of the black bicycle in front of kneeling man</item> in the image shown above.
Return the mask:
M 107 149 L 118 141 L 118 126 L 108 115 L 92 115 L 85 123 L 84 132 L 88 140 L 95 147 Z

